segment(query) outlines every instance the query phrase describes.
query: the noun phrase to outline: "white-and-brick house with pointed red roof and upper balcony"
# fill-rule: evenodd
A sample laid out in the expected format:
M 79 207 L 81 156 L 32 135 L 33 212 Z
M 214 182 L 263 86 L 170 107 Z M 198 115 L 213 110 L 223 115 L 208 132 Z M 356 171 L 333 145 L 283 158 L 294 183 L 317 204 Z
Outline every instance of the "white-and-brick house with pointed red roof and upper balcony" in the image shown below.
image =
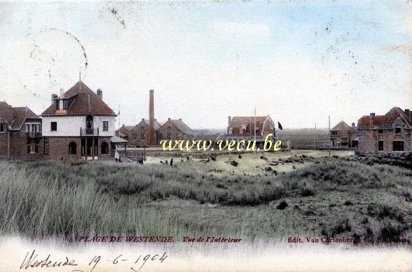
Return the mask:
M 103 92 L 93 92 L 77 82 L 41 116 L 44 158 L 64 160 L 106 160 L 111 158 L 111 137 L 115 135 L 115 112 L 103 101 Z

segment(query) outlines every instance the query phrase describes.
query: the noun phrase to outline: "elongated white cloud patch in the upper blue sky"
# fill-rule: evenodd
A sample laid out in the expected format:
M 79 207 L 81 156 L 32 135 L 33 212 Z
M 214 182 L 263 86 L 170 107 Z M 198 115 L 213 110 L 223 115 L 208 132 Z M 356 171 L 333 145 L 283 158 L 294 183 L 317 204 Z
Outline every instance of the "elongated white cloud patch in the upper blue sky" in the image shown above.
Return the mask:
M 211 27 L 215 32 L 229 36 L 268 37 L 271 34 L 271 29 L 262 23 L 216 22 Z

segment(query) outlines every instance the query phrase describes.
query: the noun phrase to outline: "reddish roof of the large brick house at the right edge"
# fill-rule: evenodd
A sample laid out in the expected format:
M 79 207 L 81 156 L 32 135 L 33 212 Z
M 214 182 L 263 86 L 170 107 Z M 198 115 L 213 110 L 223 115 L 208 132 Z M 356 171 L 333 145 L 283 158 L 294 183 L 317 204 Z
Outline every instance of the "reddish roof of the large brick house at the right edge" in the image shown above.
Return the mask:
M 393 107 L 385 115 L 365 115 L 358 120 L 358 129 L 391 129 L 396 119 L 402 119 L 412 127 L 412 118 L 398 107 Z

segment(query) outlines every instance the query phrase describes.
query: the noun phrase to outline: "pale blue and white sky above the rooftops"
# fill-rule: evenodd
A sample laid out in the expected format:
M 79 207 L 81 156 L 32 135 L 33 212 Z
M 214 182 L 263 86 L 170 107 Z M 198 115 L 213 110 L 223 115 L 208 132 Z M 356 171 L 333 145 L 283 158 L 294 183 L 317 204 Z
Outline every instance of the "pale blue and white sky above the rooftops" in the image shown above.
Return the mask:
M 409 1 L 0 3 L 0 101 L 41 114 L 80 71 L 121 125 L 153 89 L 158 121 L 328 127 L 412 108 L 411 34 Z

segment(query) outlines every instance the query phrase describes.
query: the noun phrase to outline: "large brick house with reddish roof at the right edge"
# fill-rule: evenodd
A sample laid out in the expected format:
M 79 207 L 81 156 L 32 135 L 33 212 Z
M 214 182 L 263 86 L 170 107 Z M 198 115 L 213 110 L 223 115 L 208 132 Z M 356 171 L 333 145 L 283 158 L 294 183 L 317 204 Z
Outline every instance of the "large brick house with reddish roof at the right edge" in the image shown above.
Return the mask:
M 412 114 L 391 108 L 385 115 L 371 113 L 358 120 L 358 153 L 412 152 Z

